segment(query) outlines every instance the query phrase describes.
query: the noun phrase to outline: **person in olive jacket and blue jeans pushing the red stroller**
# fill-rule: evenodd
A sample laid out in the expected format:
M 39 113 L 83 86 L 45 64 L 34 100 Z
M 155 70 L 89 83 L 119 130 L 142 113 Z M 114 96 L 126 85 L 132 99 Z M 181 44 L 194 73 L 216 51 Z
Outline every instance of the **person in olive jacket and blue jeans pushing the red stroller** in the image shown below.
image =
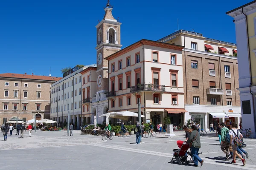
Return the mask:
M 201 167 L 203 166 L 204 161 L 198 156 L 198 151 L 201 147 L 201 142 L 200 142 L 200 134 L 197 131 L 197 126 L 192 125 L 191 129 L 192 132 L 189 136 L 189 139 L 187 140 L 187 143 L 189 144 L 191 148 L 191 153 L 192 153 L 192 159 L 195 164 L 193 164 L 194 167 L 198 166 L 198 161 L 201 163 Z

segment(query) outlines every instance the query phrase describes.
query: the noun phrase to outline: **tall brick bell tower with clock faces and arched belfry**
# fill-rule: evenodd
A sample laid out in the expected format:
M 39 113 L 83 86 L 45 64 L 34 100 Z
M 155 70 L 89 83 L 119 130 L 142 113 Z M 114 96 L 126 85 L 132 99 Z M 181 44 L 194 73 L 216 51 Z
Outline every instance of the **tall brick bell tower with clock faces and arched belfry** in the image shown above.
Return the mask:
M 108 61 L 105 59 L 109 55 L 119 51 L 122 47 L 120 44 L 120 26 L 112 15 L 113 6 L 108 3 L 105 7 L 104 18 L 98 23 L 96 36 L 97 51 L 97 98 L 102 100 L 103 94 L 108 92 Z M 102 96 L 102 97 L 100 97 Z M 101 99 L 99 99 L 101 98 Z

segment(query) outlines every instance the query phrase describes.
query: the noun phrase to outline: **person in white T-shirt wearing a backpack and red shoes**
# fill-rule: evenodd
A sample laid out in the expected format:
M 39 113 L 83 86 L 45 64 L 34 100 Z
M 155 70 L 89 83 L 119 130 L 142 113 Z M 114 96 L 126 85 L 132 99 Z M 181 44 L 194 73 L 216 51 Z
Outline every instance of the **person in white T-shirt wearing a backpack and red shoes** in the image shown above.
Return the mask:
M 243 162 L 243 166 L 246 164 L 246 159 L 243 159 L 239 153 L 237 153 L 237 148 L 242 146 L 242 138 L 243 135 L 236 129 L 237 124 L 235 122 L 232 123 L 232 129 L 229 130 L 230 135 L 230 144 L 233 148 L 233 161 L 232 164 L 236 163 L 236 156 L 241 159 Z

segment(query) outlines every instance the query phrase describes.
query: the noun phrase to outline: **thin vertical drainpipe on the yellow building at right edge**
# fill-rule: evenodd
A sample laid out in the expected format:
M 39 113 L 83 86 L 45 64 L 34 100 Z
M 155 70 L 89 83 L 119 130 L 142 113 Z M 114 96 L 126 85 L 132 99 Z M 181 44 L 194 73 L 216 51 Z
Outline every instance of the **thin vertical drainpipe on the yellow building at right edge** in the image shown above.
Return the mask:
M 244 14 L 244 7 L 242 8 L 242 13 Z M 256 123 L 256 116 L 255 116 L 255 106 L 254 106 L 254 94 L 251 92 L 251 86 L 253 85 L 253 78 L 252 78 L 252 69 L 251 69 L 251 60 L 250 60 L 250 45 L 249 45 L 249 33 L 248 33 L 248 22 L 247 22 L 247 15 L 245 16 L 245 22 L 246 22 L 246 38 L 247 38 L 247 52 L 248 52 L 248 58 L 249 58 L 249 69 L 250 69 L 250 94 L 253 96 L 253 119 L 254 124 Z M 256 132 L 256 126 L 254 125 L 254 130 Z

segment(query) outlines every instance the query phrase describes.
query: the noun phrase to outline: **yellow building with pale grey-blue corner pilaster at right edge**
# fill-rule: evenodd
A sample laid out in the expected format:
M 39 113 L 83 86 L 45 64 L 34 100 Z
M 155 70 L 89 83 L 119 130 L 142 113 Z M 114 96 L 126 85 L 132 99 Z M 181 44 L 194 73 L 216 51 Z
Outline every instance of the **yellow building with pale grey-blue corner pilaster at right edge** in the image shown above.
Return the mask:
M 228 11 L 234 18 L 238 52 L 242 127 L 256 132 L 256 0 Z

